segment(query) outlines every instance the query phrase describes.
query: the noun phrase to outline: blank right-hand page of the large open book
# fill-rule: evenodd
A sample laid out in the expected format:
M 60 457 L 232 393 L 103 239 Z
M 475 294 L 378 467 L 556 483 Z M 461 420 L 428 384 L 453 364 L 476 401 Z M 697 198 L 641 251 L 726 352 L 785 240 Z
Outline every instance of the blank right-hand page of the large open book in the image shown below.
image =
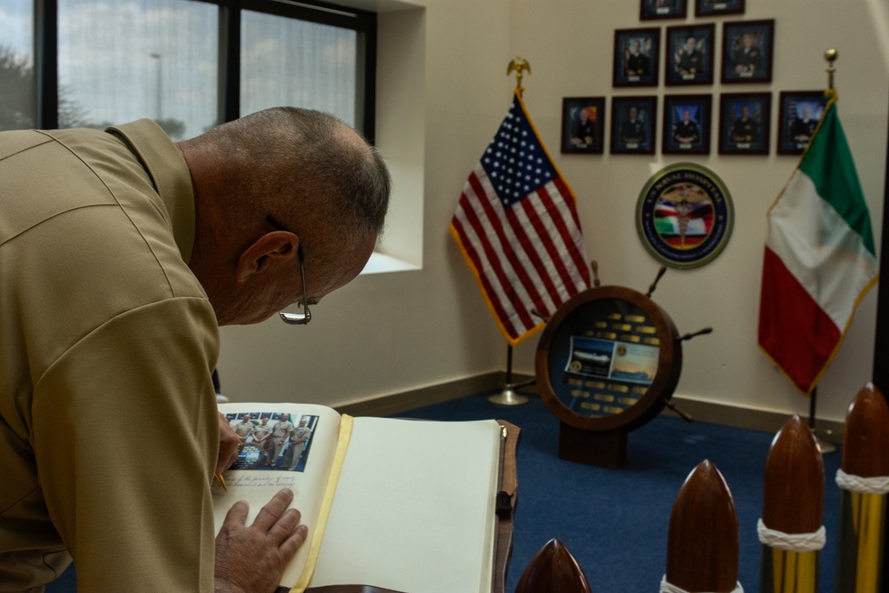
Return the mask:
M 491 590 L 501 427 L 356 418 L 312 587 Z

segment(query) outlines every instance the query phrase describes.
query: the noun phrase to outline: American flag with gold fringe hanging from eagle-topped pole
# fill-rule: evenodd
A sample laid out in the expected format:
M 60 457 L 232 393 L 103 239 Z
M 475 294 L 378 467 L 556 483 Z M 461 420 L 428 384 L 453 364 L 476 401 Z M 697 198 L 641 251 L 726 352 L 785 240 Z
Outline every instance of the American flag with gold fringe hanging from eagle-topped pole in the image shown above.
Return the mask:
M 517 89 L 451 220 L 451 234 L 510 346 L 589 288 L 576 202 Z

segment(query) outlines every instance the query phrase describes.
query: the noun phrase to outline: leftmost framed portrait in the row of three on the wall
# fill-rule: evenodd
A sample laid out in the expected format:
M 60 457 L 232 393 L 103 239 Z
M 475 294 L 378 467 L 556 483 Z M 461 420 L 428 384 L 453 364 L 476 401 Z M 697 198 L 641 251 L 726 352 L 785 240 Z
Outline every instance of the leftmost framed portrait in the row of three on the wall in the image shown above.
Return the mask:
M 661 28 L 614 31 L 613 86 L 657 86 L 660 66 Z

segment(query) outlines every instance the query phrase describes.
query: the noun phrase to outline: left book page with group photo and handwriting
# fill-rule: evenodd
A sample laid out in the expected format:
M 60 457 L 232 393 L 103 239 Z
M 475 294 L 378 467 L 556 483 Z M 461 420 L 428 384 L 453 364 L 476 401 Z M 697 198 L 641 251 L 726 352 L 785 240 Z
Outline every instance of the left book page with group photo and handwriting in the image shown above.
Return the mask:
M 299 428 L 300 421 L 305 420 L 306 426 L 311 430 L 308 445 L 293 470 L 289 468 L 292 455 L 287 452 L 290 446 L 287 445 L 282 447 L 283 451 L 279 452 L 276 459 L 277 469 L 272 469 L 262 461 L 252 469 L 229 469 L 223 474 L 228 490 L 223 490 L 218 484 L 214 484 L 212 488 L 216 533 L 220 532 L 228 509 L 236 501 L 247 501 L 250 504 L 246 524 L 251 525 L 260 509 L 275 493 L 283 488 L 292 489 L 295 494 L 292 507 L 300 510 L 301 522 L 308 525 L 308 540 L 287 566 L 281 581 L 282 585 L 292 587 L 299 580 L 302 568 L 306 564 L 309 543 L 315 533 L 324 486 L 327 485 L 327 476 L 330 473 L 340 432 L 340 414 L 323 405 L 308 404 L 238 403 L 220 404 L 219 408 L 221 413 L 232 417 L 229 423 L 236 430 L 238 423 L 244 421 L 244 413 L 250 413 L 251 421 L 255 420 L 257 424 L 261 423 L 261 418 L 265 416 L 268 418 L 267 423 L 272 426 L 282 421 L 282 417 L 286 415 L 294 429 Z M 255 454 L 256 449 L 249 446 L 252 440 L 251 437 L 247 438 L 245 451 Z M 242 454 L 238 458 L 238 463 L 252 464 L 254 459 Z

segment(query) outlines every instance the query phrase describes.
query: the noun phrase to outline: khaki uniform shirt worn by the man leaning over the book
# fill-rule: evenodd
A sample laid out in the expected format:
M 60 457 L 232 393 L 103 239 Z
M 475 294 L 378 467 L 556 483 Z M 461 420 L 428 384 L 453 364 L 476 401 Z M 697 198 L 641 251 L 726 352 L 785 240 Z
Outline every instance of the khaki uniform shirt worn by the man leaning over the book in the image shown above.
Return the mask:
M 211 591 L 212 306 L 188 166 L 140 120 L 0 133 L 0 591 Z

